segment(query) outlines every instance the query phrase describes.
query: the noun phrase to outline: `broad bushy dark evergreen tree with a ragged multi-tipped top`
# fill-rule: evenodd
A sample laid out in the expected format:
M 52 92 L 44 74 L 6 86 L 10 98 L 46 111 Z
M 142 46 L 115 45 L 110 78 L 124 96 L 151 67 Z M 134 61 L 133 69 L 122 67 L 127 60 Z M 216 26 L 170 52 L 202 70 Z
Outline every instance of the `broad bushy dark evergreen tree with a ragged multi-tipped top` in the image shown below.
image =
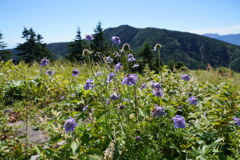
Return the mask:
M 25 62 L 33 62 L 34 60 L 40 61 L 42 58 L 52 58 L 53 56 L 46 48 L 46 43 L 42 43 L 43 37 L 40 34 L 36 34 L 32 28 L 29 30 L 24 28 L 22 38 L 26 42 L 19 44 L 16 50 L 19 50 L 18 54 L 20 60 Z

